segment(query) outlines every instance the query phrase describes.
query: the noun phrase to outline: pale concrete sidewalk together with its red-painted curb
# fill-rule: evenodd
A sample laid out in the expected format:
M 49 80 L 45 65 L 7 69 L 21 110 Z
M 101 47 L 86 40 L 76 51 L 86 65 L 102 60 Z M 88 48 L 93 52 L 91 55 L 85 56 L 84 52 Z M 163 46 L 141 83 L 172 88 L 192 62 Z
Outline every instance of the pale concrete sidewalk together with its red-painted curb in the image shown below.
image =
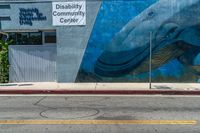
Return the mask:
M 91 95 L 200 95 L 199 83 L 56 83 L 0 84 L 0 94 L 91 94 Z

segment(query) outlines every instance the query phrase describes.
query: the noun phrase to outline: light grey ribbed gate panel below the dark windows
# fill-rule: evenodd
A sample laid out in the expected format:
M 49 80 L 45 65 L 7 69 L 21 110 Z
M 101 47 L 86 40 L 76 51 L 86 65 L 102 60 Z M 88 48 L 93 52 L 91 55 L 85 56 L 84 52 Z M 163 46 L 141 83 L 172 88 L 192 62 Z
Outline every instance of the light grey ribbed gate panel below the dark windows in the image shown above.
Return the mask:
M 56 45 L 11 45 L 10 82 L 52 82 L 56 80 Z

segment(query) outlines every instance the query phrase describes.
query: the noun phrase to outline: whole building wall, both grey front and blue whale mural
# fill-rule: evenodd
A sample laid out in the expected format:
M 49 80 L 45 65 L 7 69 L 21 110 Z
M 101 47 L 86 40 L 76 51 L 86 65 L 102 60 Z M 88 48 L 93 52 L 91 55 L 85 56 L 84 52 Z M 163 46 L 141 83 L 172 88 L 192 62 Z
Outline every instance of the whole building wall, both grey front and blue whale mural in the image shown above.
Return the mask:
M 199 82 L 200 0 L 78 2 L 1 1 L 10 82 Z

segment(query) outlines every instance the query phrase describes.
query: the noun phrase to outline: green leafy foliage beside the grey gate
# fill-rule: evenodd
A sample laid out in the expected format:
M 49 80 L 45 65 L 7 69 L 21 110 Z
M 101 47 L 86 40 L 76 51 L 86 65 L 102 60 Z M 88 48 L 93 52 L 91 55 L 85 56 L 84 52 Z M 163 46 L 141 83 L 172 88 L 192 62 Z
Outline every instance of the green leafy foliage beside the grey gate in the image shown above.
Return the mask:
M 9 81 L 8 46 L 12 41 L 0 40 L 0 83 Z

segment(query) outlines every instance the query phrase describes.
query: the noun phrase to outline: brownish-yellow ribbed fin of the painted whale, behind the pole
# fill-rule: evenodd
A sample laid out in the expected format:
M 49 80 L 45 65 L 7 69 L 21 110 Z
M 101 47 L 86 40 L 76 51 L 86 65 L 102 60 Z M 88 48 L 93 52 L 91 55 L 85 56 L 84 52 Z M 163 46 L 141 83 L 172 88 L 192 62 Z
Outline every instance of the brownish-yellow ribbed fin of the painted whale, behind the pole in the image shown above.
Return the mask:
M 152 54 L 152 69 L 156 69 L 163 64 L 166 64 L 172 59 L 175 59 L 184 54 L 184 50 L 177 47 L 176 44 L 168 45 Z M 131 73 L 143 73 L 149 71 L 149 57 L 146 58 L 141 65 L 139 65 Z

